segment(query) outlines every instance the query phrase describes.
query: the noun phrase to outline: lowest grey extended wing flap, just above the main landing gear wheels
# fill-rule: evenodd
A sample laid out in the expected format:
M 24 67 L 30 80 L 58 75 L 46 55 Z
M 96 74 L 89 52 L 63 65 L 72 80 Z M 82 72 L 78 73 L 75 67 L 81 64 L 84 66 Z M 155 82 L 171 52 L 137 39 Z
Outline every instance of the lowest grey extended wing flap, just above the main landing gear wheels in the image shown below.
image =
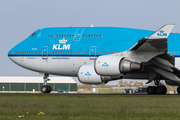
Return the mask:
M 169 80 L 172 80 L 175 82 L 180 82 L 180 79 L 173 73 L 167 72 L 167 71 L 160 69 L 158 67 L 155 67 L 155 66 L 153 67 L 153 70 Z

